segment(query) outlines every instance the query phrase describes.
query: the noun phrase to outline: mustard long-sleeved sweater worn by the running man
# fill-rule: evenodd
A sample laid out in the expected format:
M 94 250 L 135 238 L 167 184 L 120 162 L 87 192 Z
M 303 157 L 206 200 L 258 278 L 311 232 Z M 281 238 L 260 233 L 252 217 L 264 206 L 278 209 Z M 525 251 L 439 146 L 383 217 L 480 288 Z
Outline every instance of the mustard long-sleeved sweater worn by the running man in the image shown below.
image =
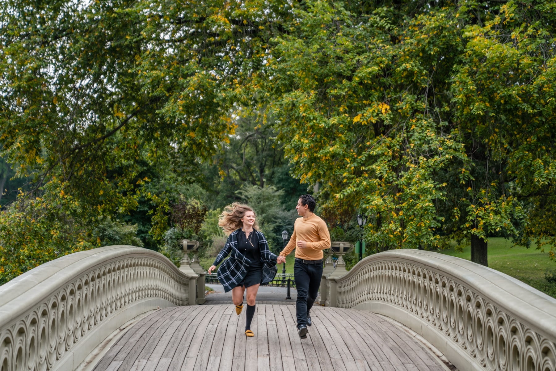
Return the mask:
M 305 241 L 307 248 L 295 249 L 297 241 Z M 330 233 L 324 220 L 319 216 L 311 214 L 309 217 L 298 217 L 294 223 L 294 233 L 292 233 L 289 243 L 281 256 L 286 256 L 295 249 L 295 257 L 304 260 L 322 259 L 322 250 L 330 248 Z

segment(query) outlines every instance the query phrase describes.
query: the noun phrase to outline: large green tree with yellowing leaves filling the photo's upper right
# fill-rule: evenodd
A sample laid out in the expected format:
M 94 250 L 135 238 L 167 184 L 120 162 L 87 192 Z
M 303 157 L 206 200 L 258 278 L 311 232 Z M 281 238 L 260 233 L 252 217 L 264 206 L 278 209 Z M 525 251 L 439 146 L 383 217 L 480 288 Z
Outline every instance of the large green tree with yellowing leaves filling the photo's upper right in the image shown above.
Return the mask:
M 553 4 L 361 5 L 296 8 L 275 39 L 265 86 L 294 175 L 365 210 L 379 249 L 463 236 L 486 264 L 488 234 L 520 238 L 525 190 L 555 180 Z

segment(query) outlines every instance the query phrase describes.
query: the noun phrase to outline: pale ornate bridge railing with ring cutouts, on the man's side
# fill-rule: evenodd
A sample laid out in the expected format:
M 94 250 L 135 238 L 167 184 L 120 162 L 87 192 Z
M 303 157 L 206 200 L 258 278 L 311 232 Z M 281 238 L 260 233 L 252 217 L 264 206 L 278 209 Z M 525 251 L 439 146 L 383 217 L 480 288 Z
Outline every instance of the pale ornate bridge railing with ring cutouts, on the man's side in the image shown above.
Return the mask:
M 329 280 L 330 301 L 413 329 L 460 371 L 556 370 L 556 299 L 460 258 L 391 250 Z

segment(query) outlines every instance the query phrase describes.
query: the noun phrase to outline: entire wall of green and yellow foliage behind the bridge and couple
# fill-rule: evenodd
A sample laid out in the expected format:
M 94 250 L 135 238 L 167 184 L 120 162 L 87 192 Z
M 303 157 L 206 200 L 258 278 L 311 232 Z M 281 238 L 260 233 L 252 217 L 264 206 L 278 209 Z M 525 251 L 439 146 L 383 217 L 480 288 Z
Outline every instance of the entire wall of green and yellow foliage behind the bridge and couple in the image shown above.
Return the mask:
M 241 197 L 279 249 L 308 185 L 378 250 L 495 234 L 554 257 L 552 1 L 9 0 L 0 23 L 0 155 L 31 182 L 5 251 L 88 248 L 98 220 L 157 248 L 181 198 Z

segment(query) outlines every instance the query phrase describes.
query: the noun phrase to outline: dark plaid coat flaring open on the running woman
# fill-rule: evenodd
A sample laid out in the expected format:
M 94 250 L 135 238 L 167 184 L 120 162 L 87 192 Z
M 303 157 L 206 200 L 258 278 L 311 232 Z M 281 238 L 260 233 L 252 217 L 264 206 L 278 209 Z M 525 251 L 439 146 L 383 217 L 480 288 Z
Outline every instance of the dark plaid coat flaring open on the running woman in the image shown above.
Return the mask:
M 244 280 L 247 274 L 247 269 L 251 265 L 251 260 L 247 259 L 245 255 L 237 250 L 237 233 L 241 229 L 233 231 L 226 245 L 220 251 L 213 265 L 218 265 L 228 254 L 230 257 L 224 260 L 224 263 L 218 268 L 217 278 L 224 286 L 224 291 L 227 293 L 235 288 L 237 284 Z M 269 250 L 269 244 L 266 242 L 265 235 L 260 231 L 255 230 L 257 237 L 259 237 L 259 249 L 261 250 L 261 263 L 262 263 L 262 279 L 261 284 L 267 284 L 274 279 L 276 275 L 276 258 L 277 255 L 272 254 Z

